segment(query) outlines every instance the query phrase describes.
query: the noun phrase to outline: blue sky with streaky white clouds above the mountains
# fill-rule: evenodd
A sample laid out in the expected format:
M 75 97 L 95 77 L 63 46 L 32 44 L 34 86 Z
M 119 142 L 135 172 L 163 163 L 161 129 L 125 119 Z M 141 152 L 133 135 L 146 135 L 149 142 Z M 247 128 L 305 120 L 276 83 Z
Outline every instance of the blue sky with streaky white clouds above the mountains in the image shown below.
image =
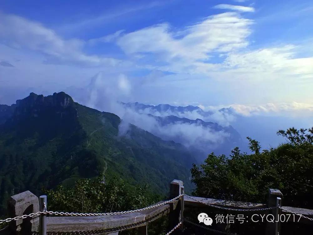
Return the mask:
M 0 103 L 66 91 L 90 107 L 311 114 L 312 28 L 304 0 L 3 0 Z

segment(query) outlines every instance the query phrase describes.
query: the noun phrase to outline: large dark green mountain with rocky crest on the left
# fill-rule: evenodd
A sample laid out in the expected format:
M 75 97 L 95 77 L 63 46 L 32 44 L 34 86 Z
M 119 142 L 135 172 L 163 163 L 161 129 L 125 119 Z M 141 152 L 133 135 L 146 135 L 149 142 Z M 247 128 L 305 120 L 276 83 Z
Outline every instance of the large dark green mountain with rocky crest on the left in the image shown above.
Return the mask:
M 188 179 L 196 160 L 181 144 L 165 141 L 134 125 L 119 134 L 121 119 L 85 107 L 64 92 L 31 93 L 15 105 L 0 106 L 0 203 L 11 194 L 82 177 L 117 177 L 149 184 L 159 192 L 168 182 Z

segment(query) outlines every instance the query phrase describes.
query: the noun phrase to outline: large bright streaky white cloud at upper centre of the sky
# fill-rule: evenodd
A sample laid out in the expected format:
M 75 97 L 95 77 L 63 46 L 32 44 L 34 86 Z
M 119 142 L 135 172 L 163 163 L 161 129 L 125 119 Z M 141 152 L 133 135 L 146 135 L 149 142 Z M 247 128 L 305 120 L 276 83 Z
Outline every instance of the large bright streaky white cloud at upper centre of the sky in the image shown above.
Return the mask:
M 212 53 L 246 47 L 251 24 L 252 20 L 228 12 L 209 16 L 182 31 L 166 23 L 140 29 L 124 34 L 117 44 L 128 55 L 141 55 L 139 61 L 155 58 L 154 66 L 160 70 L 202 73 L 219 66 L 207 63 Z

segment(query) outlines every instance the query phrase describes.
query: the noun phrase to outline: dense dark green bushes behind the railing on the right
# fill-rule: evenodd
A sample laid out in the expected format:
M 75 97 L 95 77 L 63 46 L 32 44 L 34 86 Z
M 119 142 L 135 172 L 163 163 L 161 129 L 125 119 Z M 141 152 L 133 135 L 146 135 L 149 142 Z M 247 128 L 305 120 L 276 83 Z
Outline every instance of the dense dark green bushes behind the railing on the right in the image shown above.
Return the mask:
M 209 154 L 199 168 L 193 165 L 194 194 L 232 201 L 266 203 L 269 188 L 284 195 L 284 205 L 313 208 L 313 128 L 280 130 L 287 143 L 263 150 L 249 139 L 254 154 L 233 149 L 229 157 Z

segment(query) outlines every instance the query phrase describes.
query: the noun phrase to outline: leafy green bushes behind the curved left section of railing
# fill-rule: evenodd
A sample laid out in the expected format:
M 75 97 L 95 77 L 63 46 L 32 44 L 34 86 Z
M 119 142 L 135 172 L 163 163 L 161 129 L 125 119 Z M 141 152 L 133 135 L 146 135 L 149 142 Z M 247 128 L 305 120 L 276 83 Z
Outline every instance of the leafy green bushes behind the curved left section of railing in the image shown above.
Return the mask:
M 130 186 L 113 178 L 104 184 L 103 175 L 95 179 L 80 179 L 70 188 L 59 185 L 53 190 L 44 190 L 49 199 L 49 210 L 66 212 L 117 212 L 143 208 L 162 198 L 151 192 L 148 185 Z M 151 222 L 149 234 L 166 234 L 167 216 Z M 137 234 L 137 229 L 125 230 L 121 234 Z

